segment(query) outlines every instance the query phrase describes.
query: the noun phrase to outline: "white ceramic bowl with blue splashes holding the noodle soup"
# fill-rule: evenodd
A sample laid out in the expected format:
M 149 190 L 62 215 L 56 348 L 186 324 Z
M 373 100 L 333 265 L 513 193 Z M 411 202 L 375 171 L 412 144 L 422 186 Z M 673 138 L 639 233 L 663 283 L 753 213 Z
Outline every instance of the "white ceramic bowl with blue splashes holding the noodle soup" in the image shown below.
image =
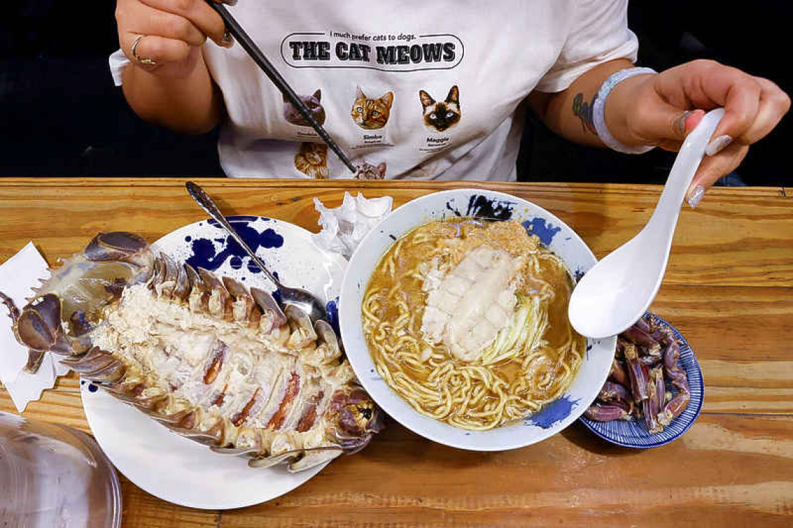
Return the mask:
M 400 424 L 447 446 L 468 450 L 515 449 L 555 435 L 572 424 L 595 399 L 614 357 L 616 338 L 588 340 L 578 374 L 567 392 L 539 412 L 508 427 L 466 431 L 416 412 L 377 374 L 363 336 L 361 303 L 370 276 L 381 256 L 397 238 L 423 223 L 450 216 L 477 216 L 522 222 L 580 276 L 596 262 L 584 241 L 548 211 L 516 196 L 483 189 L 435 192 L 397 208 L 366 235 L 353 254 L 339 297 L 339 325 L 347 357 L 374 401 Z

